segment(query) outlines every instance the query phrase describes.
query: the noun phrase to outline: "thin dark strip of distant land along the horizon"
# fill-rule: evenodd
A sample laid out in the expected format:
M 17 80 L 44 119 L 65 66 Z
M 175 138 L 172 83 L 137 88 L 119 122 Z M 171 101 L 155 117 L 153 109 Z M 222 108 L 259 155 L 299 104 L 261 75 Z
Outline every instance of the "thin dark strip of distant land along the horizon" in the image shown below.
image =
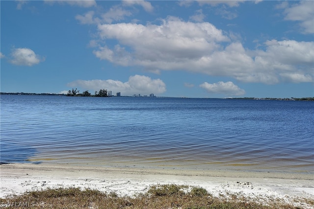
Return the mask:
M 56 94 L 56 93 L 24 93 L 24 92 L 0 92 L 0 95 L 37 95 L 37 96 L 67 96 L 66 94 Z M 80 97 L 78 95 L 78 97 Z M 115 96 L 110 96 L 115 97 Z M 120 97 L 133 97 L 133 96 L 120 96 Z M 177 98 L 177 97 L 165 97 L 165 98 Z M 191 99 L 184 97 L 185 99 Z M 193 98 L 196 99 L 196 98 Z M 202 99 L 202 98 L 198 98 Z M 205 99 L 205 98 L 204 98 Z M 206 98 L 206 99 L 228 99 L 228 100 L 284 100 L 284 101 L 314 101 L 314 97 L 302 97 L 302 98 L 256 98 L 256 97 L 227 97 L 227 98 Z

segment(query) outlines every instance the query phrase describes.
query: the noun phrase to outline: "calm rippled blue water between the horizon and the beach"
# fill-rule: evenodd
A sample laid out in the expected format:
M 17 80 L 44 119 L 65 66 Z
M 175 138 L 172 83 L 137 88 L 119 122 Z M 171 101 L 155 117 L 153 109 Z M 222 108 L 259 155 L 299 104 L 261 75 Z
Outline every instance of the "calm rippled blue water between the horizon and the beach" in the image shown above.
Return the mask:
M 0 99 L 2 163 L 314 173 L 314 102 Z

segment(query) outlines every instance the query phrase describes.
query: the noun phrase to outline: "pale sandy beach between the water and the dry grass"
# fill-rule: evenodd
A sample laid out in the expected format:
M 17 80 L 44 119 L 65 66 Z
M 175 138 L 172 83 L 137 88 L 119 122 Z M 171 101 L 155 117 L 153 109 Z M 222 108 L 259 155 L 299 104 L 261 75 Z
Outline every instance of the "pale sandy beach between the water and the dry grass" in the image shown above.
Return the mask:
M 104 168 L 69 165 L 2 164 L 0 197 L 47 187 L 76 186 L 132 196 L 151 185 L 176 183 L 206 188 L 213 196 L 231 193 L 266 203 L 272 199 L 313 208 L 303 198 L 314 199 L 314 176 L 236 171 L 184 171 Z

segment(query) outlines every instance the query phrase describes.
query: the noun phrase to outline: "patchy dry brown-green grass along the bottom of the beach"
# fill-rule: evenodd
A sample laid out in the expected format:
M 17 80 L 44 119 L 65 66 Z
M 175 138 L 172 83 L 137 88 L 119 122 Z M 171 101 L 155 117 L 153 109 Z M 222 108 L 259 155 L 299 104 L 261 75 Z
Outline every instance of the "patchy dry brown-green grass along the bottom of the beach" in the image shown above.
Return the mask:
M 313 200 L 296 201 L 314 207 Z M 236 194 L 213 197 L 202 187 L 176 184 L 151 186 L 145 194 L 133 197 L 78 187 L 48 188 L 0 198 L 0 202 L 1 207 L 11 205 L 11 208 L 16 208 L 20 205 L 34 209 L 300 209 L 280 200 L 262 204 Z

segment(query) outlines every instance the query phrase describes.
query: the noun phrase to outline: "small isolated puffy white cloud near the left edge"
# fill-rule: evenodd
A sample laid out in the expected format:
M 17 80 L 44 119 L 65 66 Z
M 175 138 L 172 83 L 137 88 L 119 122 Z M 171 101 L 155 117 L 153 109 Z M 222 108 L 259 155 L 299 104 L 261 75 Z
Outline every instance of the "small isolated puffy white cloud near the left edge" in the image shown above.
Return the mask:
M 14 65 L 27 65 L 32 66 L 44 61 L 44 58 L 40 58 L 34 51 L 27 48 L 17 48 L 11 53 L 11 59 L 9 60 Z

